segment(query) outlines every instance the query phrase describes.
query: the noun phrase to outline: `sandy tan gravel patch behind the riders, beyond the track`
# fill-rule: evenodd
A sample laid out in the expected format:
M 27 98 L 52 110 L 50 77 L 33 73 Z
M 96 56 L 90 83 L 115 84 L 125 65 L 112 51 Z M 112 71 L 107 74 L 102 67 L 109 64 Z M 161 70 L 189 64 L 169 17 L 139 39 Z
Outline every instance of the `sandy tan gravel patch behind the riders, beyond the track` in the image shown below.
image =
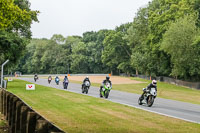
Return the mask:
M 69 76 L 69 80 L 74 81 L 83 81 L 86 76 Z M 106 76 L 89 76 L 89 79 L 92 83 L 102 83 L 103 80 L 106 79 Z M 112 84 L 139 84 L 144 83 L 141 81 L 131 80 L 128 77 L 119 77 L 119 76 L 111 76 L 110 80 Z

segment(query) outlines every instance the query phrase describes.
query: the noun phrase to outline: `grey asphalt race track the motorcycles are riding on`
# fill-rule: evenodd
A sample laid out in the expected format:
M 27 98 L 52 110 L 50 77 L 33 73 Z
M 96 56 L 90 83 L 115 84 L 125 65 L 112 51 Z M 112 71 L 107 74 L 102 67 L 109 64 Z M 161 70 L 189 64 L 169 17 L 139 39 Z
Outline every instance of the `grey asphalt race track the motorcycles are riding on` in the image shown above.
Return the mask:
M 52 87 L 56 89 L 62 89 L 63 91 L 70 91 L 70 92 L 82 94 L 80 84 L 69 83 L 67 90 L 64 90 L 62 82 L 60 82 L 59 85 L 56 85 L 54 80 L 52 80 L 52 82 L 48 84 L 47 79 L 39 79 L 37 80 L 37 82 L 34 82 L 33 78 L 18 78 L 18 79 L 22 79 L 28 82 L 32 82 L 35 84 L 48 86 L 48 87 Z M 141 93 L 142 93 L 142 90 L 141 90 Z M 91 86 L 88 94 L 83 94 L 83 95 L 89 95 L 92 97 L 99 98 L 99 88 Z M 200 124 L 200 105 L 157 97 L 154 101 L 153 106 L 147 107 L 145 105 L 138 105 L 139 96 L 140 95 L 138 94 L 111 90 L 110 95 L 107 100 L 115 102 L 115 103 L 128 105 L 131 107 L 139 108 L 139 109 L 146 110 L 149 112 L 157 113 L 160 115 L 165 115 L 168 117 L 173 117 L 173 118 Z

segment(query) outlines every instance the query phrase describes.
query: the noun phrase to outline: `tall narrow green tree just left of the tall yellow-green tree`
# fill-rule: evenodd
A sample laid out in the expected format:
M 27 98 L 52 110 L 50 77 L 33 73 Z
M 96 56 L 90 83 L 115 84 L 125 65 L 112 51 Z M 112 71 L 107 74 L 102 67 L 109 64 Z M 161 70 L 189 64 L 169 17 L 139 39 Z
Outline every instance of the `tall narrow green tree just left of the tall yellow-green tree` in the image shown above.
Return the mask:
M 145 45 L 148 33 L 148 8 L 140 8 L 124 37 L 132 51 L 131 65 L 136 70 L 136 74 L 138 74 L 138 71 L 141 73 L 148 71 L 149 60 L 146 58 L 149 58 L 149 54 Z

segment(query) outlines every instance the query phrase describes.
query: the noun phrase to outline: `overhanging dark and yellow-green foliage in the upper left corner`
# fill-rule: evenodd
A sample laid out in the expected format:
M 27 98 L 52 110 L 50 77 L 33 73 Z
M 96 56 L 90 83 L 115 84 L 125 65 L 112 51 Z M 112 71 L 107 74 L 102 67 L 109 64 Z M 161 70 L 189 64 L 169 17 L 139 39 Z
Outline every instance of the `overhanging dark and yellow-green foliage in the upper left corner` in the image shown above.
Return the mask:
M 31 38 L 31 23 L 38 11 L 27 0 L 0 0 L 0 64 L 9 59 L 16 64 Z

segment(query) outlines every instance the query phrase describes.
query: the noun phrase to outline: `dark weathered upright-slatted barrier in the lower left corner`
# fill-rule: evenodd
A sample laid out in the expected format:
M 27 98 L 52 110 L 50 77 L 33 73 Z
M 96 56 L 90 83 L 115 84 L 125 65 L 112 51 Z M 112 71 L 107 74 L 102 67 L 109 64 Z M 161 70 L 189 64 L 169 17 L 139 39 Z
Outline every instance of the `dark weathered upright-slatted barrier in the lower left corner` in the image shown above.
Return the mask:
M 64 133 L 5 89 L 0 89 L 0 112 L 8 121 L 9 133 Z

